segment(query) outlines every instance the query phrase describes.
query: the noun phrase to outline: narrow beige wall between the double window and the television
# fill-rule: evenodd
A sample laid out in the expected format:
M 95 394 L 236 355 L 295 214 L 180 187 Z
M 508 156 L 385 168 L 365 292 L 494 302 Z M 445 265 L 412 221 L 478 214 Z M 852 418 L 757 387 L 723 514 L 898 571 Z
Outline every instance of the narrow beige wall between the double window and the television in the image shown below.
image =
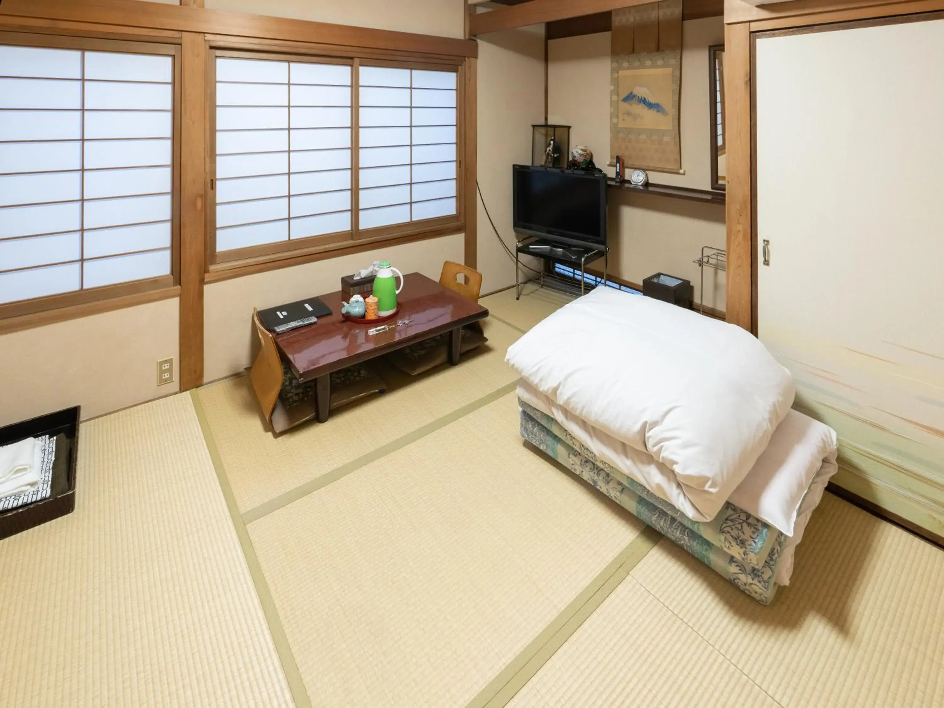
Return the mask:
M 513 251 L 512 165 L 531 163 L 531 125 L 544 123 L 544 80 L 544 25 L 479 37 L 479 183 Z M 514 261 L 498 243 L 481 200 L 478 205 L 482 292 L 491 293 L 514 284 Z

